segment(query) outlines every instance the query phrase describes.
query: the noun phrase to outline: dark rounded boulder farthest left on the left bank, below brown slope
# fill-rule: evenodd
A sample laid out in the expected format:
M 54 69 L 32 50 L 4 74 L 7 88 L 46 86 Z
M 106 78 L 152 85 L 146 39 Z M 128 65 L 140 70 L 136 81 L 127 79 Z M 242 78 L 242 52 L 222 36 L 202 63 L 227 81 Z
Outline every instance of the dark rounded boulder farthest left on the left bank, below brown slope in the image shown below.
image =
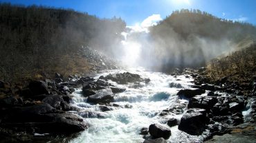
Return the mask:
M 34 80 L 29 83 L 28 87 L 32 92 L 33 96 L 37 96 L 40 94 L 50 94 L 50 91 L 48 90 L 48 85 L 44 81 Z

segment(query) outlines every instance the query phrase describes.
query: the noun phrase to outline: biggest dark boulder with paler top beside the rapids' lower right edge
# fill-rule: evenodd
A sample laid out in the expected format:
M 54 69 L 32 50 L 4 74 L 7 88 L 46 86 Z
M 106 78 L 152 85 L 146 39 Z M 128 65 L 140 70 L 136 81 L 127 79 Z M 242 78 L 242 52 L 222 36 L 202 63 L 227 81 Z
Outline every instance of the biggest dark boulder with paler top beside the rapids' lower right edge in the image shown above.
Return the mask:
M 201 135 L 208 122 L 205 109 L 188 109 L 182 116 L 178 129 L 190 135 Z

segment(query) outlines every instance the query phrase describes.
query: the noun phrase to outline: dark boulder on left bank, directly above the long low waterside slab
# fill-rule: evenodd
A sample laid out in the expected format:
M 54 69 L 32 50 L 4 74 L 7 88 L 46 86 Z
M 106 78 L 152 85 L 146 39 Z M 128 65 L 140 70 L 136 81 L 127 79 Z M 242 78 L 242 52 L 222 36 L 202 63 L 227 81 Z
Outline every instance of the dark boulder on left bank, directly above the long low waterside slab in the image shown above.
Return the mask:
M 42 102 L 50 104 L 55 109 L 60 109 L 64 111 L 70 110 L 70 107 L 66 101 L 64 101 L 61 95 L 51 95 L 42 100 Z M 68 100 L 69 102 L 69 100 Z

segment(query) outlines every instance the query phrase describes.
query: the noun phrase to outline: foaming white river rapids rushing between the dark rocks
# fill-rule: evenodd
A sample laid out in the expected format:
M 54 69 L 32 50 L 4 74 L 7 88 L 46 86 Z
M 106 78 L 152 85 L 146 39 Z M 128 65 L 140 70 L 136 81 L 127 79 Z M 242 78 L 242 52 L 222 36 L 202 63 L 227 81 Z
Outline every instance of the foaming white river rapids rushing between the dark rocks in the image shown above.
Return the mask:
M 104 115 L 107 118 L 84 118 L 89 122 L 89 129 L 82 131 L 80 135 L 71 142 L 75 143 L 101 143 L 101 142 L 143 142 L 143 135 L 140 135 L 140 129 L 149 127 L 152 123 L 164 123 L 163 118 L 160 118 L 157 113 L 167 109 L 172 104 L 187 102 L 179 100 L 176 93 L 179 89 L 170 88 L 170 83 L 180 83 L 183 87 L 188 88 L 192 85 L 192 78 L 185 78 L 185 76 L 166 75 L 158 72 L 146 72 L 145 69 L 129 69 L 128 72 L 139 74 L 142 78 L 150 78 L 150 83 L 140 83 L 141 86 L 134 88 L 132 85 L 117 85 L 118 87 L 125 87 L 127 90 L 124 93 L 116 94 L 115 103 L 125 106 L 129 104 L 132 107 L 116 108 L 113 111 L 105 111 Z M 107 74 L 127 72 L 125 70 L 113 70 L 99 74 L 99 76 L 106 76 Z M 180 80 L 177 80 L 180 79 Z M 75 106 L 84 111 L 100 111 L 98 105 L 86 103 L 86 98 L 81 96 L 81 89 L 77 89 L 73 94 Z M 169 115 L 166 118 L 178 118 L 182 115 Z M 167 124 L 163 124 L 167 126 Z M 168 127 L 168 126 L 167 126 Z M 170 127 L 168 127 L 170 128 Z M 178 130 L 178 126 L 170 128 L 172 136 L 169 142 L 201 142 L 201 136 L 192 136 Z

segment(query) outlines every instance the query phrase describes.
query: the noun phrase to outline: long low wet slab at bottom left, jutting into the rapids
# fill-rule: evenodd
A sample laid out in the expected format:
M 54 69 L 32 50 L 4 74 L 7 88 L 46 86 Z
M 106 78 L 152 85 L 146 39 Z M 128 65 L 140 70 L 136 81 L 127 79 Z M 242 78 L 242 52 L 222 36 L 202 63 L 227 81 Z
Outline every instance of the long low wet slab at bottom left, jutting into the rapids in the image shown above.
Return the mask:
M 19 131 L 58 134 L 75 133 L 88 128 L 88 124 L 80 116 L 72 113 L 38 114 L 37 119 L 3 122 L 1 126 L 5 128 L 15 127 Z

